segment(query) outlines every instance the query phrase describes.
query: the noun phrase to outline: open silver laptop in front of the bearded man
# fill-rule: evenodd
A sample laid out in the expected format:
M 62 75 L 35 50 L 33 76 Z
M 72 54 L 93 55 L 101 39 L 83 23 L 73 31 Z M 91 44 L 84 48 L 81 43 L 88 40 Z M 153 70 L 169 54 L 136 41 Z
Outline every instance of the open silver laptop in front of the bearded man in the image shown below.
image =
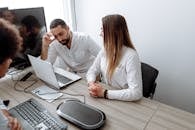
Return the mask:
M 31 55 L 28 55 L 28 58 L 36 76 L 57 89 L 65 87 L 66 85 L 81 79 L 80 76 L 74 73 L 53 67 L 50 62 L 41 60 Z

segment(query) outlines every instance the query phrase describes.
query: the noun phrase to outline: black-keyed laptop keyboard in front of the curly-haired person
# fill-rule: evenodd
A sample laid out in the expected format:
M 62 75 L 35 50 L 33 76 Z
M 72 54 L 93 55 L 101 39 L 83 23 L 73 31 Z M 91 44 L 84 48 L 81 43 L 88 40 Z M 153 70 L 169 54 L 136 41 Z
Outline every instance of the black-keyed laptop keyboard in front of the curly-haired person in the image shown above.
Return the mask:
M 66 125 L 55 119 L 35 99 L 30 99 L 12 108 L 33 128 L 42 130 L 65 130 Z

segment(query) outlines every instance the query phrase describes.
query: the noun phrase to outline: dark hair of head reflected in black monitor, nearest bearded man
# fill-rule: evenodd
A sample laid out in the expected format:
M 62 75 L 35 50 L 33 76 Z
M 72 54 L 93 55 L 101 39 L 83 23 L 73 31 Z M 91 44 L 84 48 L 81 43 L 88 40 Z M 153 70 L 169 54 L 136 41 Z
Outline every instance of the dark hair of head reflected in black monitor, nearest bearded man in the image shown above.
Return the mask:
M 32 31 L 34 27 L 41 28 L 37 18 L 32 15 L 27 15 L 21 20 L 21 24 L 27 28 L 27 31 Z

